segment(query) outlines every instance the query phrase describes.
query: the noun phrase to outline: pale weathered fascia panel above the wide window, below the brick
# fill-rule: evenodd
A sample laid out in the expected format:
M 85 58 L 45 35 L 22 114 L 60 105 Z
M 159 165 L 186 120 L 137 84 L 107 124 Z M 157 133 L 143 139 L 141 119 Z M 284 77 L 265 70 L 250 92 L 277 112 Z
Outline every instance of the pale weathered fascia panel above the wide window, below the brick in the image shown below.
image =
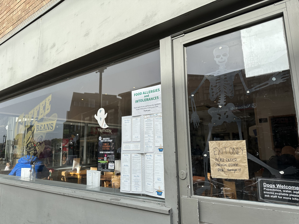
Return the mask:
M 65 0 L 0 46 L 0 91 L 214 0 Z

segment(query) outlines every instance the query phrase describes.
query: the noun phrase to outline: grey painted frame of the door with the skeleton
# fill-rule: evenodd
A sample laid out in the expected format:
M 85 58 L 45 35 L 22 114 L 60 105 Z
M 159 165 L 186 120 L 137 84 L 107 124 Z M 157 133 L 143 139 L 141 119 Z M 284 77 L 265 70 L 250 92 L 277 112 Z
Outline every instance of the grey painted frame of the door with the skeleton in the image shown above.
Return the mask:
M 193 195 L 185 67 L 185 47 L 192 42 L 223 35 L 231 30 L 242 29 L 282 16 L 289 50 L 289 63 L 298 119 L 299 88 L 296 73 L 299 70 L 299 32 L 296 28 L 299 21 L 298 8 L 298 0 L 281 1 L 210 26 L 203 25 L 202 28 L 199 27 L 198 30 L 192 32 L 182 32 L 172 38 L 172 43 L 170 43 L 170 38 L 165 38 L 160 42 L 161 44 L 168 43 L 168 49 L 173 49 L 173 71 L 171 71 L 173 76 L 168 76 L 167 80 L 169 88 L 174 85 L 178 177 L 180 177 L 181 171 L 187 174 L 185 179 L 178 178 L 181 223 L 226 223 L 228 220 L 231 220 L 230 223 L 258 223 L 260 220 L 272 220 L 273 216 L 277 217 L 273 220 L 274 223 L 281 223 L 283 220 L 288 220 L 290 223 L 298 222 L 299 208 L 296 206 Z M 161 57 L 163 56 L 161 55 Z M 212 211 L 217 212 L 213 215 Z M 242 214 L 242 216 L 235 216 L 234 219 L 231 219 L 234 214 Z

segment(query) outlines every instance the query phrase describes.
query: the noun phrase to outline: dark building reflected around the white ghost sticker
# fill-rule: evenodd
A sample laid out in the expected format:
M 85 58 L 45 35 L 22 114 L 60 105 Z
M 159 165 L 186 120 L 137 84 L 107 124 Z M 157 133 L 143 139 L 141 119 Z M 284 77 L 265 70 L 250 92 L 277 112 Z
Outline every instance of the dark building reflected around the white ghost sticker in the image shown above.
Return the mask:
M 63 123 L 63 139 L 70 139 L 69 155 L 80 157 L 83 164 L 96 162 L 98 136 L 103 135 L 118 136 L 116 147 L 120 147 L 121 105 L 123 101 L 131 100 L 130 93 L 125 93 L 125 96 L 127 99 L 103 94 L 99 99 L 99 93 L 73 93 L 70 110 Z M 102 103 L 99 103 L 100 100 Z M 124 105 L 123 110 L 128 111 L 130 105 Z M 107 113 L 105 120 L 109 127 L 105 129 L 94 118 L 101 107 Z

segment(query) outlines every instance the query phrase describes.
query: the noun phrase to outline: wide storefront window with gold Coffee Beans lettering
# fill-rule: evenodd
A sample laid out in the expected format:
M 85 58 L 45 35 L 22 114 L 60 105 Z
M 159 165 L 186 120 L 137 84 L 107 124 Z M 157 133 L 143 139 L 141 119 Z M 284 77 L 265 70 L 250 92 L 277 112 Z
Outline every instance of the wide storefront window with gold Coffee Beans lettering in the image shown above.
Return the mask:
M 160 84 L 154 50 L 1 102 L 0 172 L 8 174 L 2 177 L 27 181 L 35 170 L 43 184 L 126 195 L 120 159 L 129 131 L 122 133 L 122 118 L 132 116 L 132 91 Z M 144 147 L 140 136 L 133 141 Z

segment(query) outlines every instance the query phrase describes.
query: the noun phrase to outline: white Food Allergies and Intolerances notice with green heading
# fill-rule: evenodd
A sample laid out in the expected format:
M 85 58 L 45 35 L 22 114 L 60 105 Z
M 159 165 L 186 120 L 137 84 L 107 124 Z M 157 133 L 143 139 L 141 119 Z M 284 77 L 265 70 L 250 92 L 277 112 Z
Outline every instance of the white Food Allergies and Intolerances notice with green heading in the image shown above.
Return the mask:
M 161 112 L 161 85 L 132 91 L 132 116 Z

